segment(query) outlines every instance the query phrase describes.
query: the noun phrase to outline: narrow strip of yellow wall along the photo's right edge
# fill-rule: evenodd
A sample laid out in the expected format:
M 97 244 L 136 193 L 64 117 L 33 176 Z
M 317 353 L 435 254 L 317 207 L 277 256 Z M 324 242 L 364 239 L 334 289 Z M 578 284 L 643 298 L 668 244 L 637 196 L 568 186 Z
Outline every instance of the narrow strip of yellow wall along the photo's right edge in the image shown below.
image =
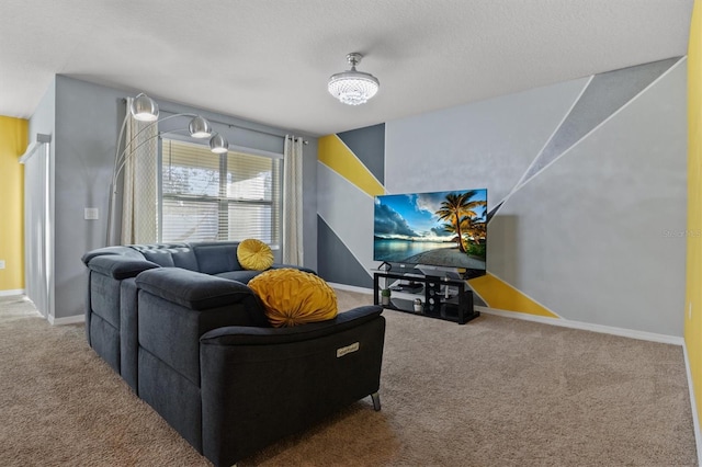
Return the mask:
M 702 419 L 702 1 L 695 0 L 688 44 L 688 232 L 684 343 L 698 419 Z

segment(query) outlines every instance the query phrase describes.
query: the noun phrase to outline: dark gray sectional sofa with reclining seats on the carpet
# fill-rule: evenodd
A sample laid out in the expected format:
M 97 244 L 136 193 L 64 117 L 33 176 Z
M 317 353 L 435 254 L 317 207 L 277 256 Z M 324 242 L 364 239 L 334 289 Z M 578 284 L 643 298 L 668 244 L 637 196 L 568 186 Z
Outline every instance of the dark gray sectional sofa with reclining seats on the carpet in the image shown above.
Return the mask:
M 380 410 L 382 308 L 272 328 L 246 285 L 260 272 L 240 266 L 237 246 L 107 247 L 82 258 L 90 346 L 217 466 L 366 396 Z

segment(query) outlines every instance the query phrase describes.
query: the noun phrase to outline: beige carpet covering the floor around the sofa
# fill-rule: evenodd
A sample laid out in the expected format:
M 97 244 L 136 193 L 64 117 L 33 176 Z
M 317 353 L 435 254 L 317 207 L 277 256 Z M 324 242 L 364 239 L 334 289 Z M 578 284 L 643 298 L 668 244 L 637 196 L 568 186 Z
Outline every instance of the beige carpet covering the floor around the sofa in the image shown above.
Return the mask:
M 338 292 L 341 309 L 370 303 Z M 370 398 L 239 465 L 693 466 L 682 349 L 386 310 Z M 0 466 L 207 466 L 86 344 L 0 297 Z

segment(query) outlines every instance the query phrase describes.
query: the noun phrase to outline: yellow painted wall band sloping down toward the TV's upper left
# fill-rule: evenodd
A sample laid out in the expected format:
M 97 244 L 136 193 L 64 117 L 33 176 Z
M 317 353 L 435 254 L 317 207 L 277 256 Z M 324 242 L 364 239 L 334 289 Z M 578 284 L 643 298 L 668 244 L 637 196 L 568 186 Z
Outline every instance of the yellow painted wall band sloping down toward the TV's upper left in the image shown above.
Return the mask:
M 367 193 L 369 196 L 385 194 L 383 185 L 337 135 L 322 136 L 318 139 L 317 158 L 319 162 Z

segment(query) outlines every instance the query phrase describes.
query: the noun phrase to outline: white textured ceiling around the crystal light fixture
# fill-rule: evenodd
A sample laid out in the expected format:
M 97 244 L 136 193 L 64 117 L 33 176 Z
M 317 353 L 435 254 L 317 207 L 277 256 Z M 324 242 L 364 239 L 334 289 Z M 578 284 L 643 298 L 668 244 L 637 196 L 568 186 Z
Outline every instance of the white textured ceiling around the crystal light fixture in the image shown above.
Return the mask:
M 327 135 L 687 54 L 693 0 L 3 0 L 0 115 L 63 73 Z M 358 67 L 367 104 L 327 92 Z

